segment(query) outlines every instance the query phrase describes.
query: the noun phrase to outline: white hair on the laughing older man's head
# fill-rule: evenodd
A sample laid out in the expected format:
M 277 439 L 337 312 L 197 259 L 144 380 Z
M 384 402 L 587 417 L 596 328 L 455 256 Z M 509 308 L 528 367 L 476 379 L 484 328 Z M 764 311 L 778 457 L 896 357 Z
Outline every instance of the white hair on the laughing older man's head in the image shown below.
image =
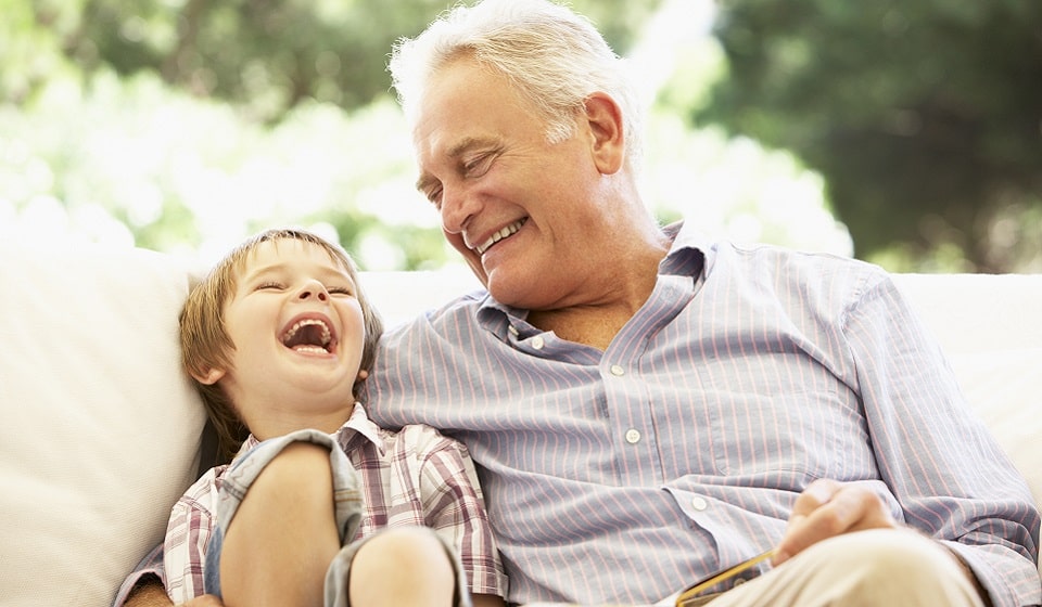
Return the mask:
M 399 39 L 391 55 L 391 81 L 410 124 L 429 79 L 461 56 L 506 76 L 545 118 L 550 143 L 573 134 L 590 93 L 609 94 L 622 112 L 626 157 L 638 167 L 639 95 L 588 18 L 547 0 L 484 0 L 443 13 L 416 38 Z

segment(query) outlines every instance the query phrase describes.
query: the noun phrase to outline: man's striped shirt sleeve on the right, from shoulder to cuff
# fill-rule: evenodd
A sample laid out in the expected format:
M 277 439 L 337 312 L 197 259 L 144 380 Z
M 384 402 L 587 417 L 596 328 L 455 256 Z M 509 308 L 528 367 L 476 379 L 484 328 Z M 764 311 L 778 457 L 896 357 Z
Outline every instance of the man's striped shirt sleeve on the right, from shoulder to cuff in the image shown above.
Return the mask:
M 868 431 L 905 521 L 955 551 L 996 607 L 1039 603 L 1039 512 L 940 346 L 889 279 L 848 312 Z

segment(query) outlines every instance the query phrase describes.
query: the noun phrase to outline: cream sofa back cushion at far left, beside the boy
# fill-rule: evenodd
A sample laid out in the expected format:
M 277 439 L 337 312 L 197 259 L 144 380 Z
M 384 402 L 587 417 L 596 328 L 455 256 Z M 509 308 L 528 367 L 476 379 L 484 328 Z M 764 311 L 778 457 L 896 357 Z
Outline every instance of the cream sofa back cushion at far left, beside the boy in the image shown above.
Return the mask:
M 0 597 L 111 604 L 194 479 L 170 256 L 0 244 Z

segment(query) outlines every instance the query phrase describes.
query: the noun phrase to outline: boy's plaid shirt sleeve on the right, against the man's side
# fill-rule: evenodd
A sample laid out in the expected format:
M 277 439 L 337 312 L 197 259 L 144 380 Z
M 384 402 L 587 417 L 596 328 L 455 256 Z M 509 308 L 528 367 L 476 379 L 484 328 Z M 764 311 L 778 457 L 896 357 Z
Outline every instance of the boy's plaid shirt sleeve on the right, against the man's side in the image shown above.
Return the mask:
M 427 525 L 457 546 L 472 594 L 505 597 L 507 578 L 470 452 L 433 428 L 414 428 L 428 435 L 418 453 Z

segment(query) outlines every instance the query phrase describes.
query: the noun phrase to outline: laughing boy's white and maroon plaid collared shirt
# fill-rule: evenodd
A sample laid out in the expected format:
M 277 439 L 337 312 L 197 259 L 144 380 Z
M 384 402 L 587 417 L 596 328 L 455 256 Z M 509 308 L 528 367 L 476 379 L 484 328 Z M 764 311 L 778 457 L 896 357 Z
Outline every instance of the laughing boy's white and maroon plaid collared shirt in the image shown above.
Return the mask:
M 385 527 L 431 527 L 457 546 L 471 593 L 506 595 L 506 577 L 466 447 L 430 426 L 409 425 L 397 432 L 379 428 L 360 404 L 333 436 L 360 475 L 364 512 L 356 540 Z M 240 454 L 256 444 L 250 437 Z M 209 469 L 178 500 L 163 552 L 150 555 L 152 563 L 124 583 L 115 605 L 122 605 L 148 572 L 163 579 L 175 603 L 203 594 L 206 545 L 227 468 Z

